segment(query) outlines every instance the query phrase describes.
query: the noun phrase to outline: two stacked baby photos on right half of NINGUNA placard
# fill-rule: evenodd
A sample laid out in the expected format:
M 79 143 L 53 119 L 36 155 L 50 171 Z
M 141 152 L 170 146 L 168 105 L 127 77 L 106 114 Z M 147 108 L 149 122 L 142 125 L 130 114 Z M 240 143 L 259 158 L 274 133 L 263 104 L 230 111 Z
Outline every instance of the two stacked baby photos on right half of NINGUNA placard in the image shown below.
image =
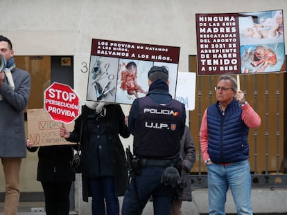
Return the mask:
M 285 70 L 283 11 L 240 14 L 241 73 Z

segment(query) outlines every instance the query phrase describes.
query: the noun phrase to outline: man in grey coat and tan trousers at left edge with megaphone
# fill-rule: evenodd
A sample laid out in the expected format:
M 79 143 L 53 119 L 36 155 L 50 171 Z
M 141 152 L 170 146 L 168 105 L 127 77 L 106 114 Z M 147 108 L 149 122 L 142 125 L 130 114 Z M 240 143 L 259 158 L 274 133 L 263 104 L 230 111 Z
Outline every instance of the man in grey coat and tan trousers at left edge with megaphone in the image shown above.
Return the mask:
M 31 76 L 16 67 L 12 43 L 2 35 L 0 55 L 0 158 L 6 183 L 3 214 L 14 215 L 19 205 L 21 161 L 26 158 L 24 109 L 30 95 Z

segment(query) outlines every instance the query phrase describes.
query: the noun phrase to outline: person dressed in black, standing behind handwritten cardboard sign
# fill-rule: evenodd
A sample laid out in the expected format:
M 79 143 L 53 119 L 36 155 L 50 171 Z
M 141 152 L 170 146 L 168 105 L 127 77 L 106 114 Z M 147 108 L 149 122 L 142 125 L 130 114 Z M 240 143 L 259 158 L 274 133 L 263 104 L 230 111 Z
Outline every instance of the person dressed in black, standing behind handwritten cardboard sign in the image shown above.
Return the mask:
M 47 215 L 68 215 L 70 210 L 69 194 L 71 184 L 75 180 L 75 172 L 71 168 L 73 146 L 33 147 L 27 140 L 28 151 L 38 150 L 37 180 L 41 182 Z

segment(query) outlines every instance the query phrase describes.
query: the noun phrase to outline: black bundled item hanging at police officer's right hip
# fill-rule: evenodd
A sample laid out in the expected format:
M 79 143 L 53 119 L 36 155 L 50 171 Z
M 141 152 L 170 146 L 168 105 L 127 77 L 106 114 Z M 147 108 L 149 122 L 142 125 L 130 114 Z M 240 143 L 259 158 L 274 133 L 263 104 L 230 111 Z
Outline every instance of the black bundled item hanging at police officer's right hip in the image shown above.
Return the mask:
M 175 167 L 166 167 L 162 174 L 161 183 L 164 185 L 171 185 L 172 187 L 180 185 L 180 174 L 178 173 L 177 169 L 175 169 Z

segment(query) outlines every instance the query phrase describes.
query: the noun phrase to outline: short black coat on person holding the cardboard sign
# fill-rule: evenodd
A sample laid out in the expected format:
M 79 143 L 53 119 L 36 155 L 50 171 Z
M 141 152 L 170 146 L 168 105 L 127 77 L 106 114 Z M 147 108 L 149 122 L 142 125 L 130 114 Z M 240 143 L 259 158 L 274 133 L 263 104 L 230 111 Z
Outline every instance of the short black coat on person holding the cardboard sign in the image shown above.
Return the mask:
M 71 168 L 73 146 L 27 147 L 28 151 L 31 152 L 37 151 L 38 148 L 38 181 L 54 183 L 75 180 L 75 172 Z

